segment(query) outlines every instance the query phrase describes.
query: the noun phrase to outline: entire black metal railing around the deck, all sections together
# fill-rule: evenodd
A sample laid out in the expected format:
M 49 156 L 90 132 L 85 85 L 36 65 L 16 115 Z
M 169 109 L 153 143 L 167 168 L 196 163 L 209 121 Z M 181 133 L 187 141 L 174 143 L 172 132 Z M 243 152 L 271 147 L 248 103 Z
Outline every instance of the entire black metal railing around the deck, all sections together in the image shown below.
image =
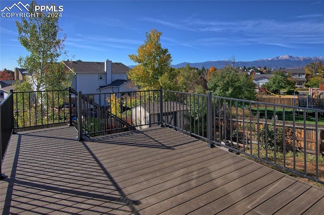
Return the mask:
M 206 141 L 208 147 L 225 147 L 324 184 L 321 107 L 307 109 L 161 89 L 97 94 L 72 89 L 17 92 L 7 97 L 2 107 L 9 101 L 13 107 L 1 109 L 2 123 L 7 117 L 15 130 L 69 123 L 77 128 L 81 141 L 84 135 L 168 126 Z M 13 110 L 13 116 L 4 110 Z M 11 128 L 6 123 L 2 126 Z M 3 129 L 1 134 L 5 135 Z

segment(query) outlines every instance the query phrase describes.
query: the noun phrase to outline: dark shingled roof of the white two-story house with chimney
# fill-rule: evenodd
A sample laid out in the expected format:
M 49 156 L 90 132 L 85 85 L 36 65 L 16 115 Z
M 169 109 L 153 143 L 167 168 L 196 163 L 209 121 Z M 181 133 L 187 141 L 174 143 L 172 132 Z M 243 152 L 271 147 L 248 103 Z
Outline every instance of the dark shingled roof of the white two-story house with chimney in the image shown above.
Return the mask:
M 105 62 L 64 61 L 74 73 L 105 73 Z M 111 63 L 112 73 L 127 73 L 130 67 L 123 63 Z

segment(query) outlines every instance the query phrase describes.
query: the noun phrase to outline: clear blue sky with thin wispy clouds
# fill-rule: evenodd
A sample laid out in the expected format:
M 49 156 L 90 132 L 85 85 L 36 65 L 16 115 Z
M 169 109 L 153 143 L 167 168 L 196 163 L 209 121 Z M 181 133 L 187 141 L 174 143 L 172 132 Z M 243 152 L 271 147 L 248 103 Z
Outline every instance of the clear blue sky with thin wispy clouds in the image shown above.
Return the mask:
M 1 0 L 0 10 L 18 2 Z M 64 59 L 134 65 L 128 55 L 137 54 L 153 28 L 163 33 L 172 64 L 324 56 L 324 1 L 37 1 L 46 3 L 64 8 Z M 0 69 L 13 70 L 28 54 L 17 40 L 16 20 L 0 18 Z

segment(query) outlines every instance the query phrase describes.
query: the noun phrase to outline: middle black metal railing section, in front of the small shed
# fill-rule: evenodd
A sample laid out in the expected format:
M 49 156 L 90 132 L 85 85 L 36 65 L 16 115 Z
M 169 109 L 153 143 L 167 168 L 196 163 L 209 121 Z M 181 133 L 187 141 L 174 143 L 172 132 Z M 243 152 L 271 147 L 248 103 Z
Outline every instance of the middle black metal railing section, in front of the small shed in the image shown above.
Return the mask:
M 148 114 L 159 113 L 159 90 L 136 92 L 111 92 L 83 94 L 77 102 L 77 113 L 80 113 L 77 124 L 82 124 L 84 133 L 102 135 L 135 128 L 144 128 L 157 124 L 158 119 L 144 117 L 142 112 L 147 108 Z

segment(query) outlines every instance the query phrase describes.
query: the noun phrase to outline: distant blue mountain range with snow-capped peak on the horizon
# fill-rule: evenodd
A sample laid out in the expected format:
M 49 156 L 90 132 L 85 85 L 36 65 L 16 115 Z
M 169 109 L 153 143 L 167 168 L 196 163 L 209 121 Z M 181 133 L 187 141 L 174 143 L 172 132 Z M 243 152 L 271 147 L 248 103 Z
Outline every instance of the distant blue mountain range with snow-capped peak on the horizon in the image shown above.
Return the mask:
M 296 57 L 291 55 L 282 55 L 278 57 L 268 58 L 268 59 L 259 59 L 254 61 L 236 61 L 234 66 L 235 67 L 258 67 L 261 66 L 262 68 L 266 66 L 267 68 L 304 68 L 307 64 L 312 61 L 324 61 L 324 57 Z M 213 61 L 205 61 L 205 62 L 198 62 L 198 63 L 189 63 L 183 62 L 179 64 L 171 65 L 174 68 L 184 67 L 187 64 L 191 67 L 195 68 L 202 68 L 203 66 L 207 69 L 214 66 L 216 68 L 223 68 L 225 65 L 232 65 L 229 60 L 213 60 Z M 129 66 L 133 68 L 134 65 Z

